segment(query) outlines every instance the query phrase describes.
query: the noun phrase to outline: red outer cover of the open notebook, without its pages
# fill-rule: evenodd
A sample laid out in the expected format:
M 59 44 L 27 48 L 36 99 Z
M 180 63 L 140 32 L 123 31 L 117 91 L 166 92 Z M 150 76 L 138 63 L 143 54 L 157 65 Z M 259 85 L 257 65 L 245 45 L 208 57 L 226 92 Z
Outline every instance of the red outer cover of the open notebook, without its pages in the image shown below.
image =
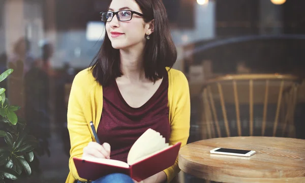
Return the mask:
M 156 155 L 131 165 L 129 168 L 90 162 L 79 158 L 73 158 L 73 161 L 78 175 L 87 180 L 96 180 L 110 173 L 124 173 L 136 181 L 141 181 L 174 165 L 180 146 L 181 143 L 178 142 Z

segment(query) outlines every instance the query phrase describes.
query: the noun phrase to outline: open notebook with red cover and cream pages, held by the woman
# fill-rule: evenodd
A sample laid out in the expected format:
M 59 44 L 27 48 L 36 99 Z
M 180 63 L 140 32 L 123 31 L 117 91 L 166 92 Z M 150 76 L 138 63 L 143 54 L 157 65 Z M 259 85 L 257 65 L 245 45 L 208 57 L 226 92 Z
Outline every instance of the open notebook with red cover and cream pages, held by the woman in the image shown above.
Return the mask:
M 131 147 L 127 163 L 111 159 L 73 158 L 81 178 L 95 180 L 109 173 L 125 173 L 141 181 L 175 163 L 181 143 L 165 143 L 155 130 L 145 131 Z

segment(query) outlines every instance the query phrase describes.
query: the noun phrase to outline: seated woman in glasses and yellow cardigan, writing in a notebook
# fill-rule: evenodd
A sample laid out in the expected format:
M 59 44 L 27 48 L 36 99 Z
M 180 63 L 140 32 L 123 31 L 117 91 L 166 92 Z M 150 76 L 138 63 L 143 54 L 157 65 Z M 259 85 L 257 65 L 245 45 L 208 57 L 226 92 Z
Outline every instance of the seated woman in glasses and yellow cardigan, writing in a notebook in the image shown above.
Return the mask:
M 162 0 L 113 0 L 101 15 L 107 35 L 93 66 L 75 77 L 69 98 L 69 183 L 86 181 L 78 176 L 73 157 L 126 162 L 148 128 L 169 144 L 185 145 L 189 137 L 189 86 L 184 74 L 170 69 L 177 53 Z M 102 145 L 89 130 L 90 121 Z M 144 182 L 170 182 L 178 171 L 176 161 Z M 92 182 L 133 180 L 110 174 Z

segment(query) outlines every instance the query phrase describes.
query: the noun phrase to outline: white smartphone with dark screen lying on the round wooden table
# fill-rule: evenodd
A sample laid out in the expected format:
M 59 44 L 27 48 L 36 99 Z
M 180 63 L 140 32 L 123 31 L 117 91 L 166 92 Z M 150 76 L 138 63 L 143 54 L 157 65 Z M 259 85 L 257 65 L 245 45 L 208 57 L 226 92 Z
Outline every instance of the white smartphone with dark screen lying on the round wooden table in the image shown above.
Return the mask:
M 210 150 L 211 154 L 219 154 L 219 155 L 232 155 L 232 156 L 242 156 L 242 157 L 250 157 L 256 153 L 255 150 L 243 150 L 243 149 L 231 149 L 231 148 L 222 148 L 217 147 L 215 149 Z

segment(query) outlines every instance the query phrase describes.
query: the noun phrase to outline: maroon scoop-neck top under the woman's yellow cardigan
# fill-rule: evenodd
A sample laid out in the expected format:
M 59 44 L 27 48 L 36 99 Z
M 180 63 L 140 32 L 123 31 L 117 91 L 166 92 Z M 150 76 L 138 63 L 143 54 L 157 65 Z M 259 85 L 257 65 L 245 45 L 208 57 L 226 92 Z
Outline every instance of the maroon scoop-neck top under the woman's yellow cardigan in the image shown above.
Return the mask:
M 131 146 L 149 128 L 160 132 L 168 142 L 170 124 L 167 74 L 153 97 L 139 108 L 126 103 L 115 80 L 103 87 L 103 110 L 97 134 L 101 144 L 110 144 L 111 159 L 127 162 Z

